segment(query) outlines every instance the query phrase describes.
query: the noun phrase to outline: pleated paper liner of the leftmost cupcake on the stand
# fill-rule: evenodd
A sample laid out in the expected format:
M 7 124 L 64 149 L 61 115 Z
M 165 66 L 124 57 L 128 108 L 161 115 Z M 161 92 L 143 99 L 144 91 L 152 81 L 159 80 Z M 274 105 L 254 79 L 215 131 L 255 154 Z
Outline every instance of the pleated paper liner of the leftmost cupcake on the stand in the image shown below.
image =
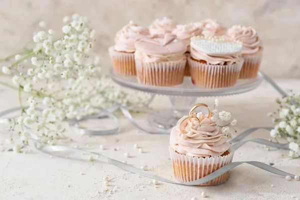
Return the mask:
M 114 46 L 108 48 L 113 71 L 122 75 L 136 75 L 134 52 L 118 52 Z

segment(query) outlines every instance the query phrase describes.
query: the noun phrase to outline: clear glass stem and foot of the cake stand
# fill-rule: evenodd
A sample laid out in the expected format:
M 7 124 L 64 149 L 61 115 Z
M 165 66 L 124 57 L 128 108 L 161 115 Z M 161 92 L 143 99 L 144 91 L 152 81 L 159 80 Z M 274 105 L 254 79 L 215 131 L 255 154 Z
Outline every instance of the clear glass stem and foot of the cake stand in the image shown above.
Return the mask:
M 189 108 L 195 104 L 197 97 L 169 96 L 171 109 L 156 110 L 147 117 L 147 123 L 154 128 L 168 130 L 174 127 L 184 115 L 188 115 Z

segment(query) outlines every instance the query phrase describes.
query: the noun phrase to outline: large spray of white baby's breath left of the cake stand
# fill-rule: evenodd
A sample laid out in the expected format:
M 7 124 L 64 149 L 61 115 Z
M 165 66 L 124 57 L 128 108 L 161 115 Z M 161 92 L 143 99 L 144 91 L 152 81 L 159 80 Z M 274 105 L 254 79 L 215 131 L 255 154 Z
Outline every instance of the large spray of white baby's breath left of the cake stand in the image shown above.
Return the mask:
M 22 141 L 13 147 L 16 151 L 23 149 L 20 146 L 28 143 L 29 136 L 17 126 L 31 125 L 41 145 L 55 144 L 56 139 L 64 137 L 62 120 L 81 119 L 96 112 L 94 107 L 109 107 L 116 102 L 133 110 L 146 106 L 148 96 L 125 91 L 101 74 L 100 58 L 92 51 L 95 30 L 88 26 L 87 17 L 73 14 L 63 22 L 62 34 L 40 30 L 33 35 L 33 48 L 23 48 L 1 60 L 10 61 L 2 66 L 2 72 L 11 76 L 14 86 L 0 84 L 18 90 L 22 107 L 18 116 L 5 120 L 9 132 L 17 133 Z M 39 25 L 45 27 L 45 22 Z M 29 94 L 26 109 L 21 103 L 23 92 Z M 14 142 L 12 137 L 6 141 Z

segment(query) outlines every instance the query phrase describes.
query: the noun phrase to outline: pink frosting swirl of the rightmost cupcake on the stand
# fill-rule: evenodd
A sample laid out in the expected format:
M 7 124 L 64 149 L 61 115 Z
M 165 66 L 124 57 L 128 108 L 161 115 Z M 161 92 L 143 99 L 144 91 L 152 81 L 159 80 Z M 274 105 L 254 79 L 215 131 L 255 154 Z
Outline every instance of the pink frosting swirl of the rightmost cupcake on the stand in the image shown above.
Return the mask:
M 227 36 L 243 43 L 242 54 L 254 54 L 262 50 L 262 43 L 254 28 L 246 25 L 233 25 L 227 30 Z

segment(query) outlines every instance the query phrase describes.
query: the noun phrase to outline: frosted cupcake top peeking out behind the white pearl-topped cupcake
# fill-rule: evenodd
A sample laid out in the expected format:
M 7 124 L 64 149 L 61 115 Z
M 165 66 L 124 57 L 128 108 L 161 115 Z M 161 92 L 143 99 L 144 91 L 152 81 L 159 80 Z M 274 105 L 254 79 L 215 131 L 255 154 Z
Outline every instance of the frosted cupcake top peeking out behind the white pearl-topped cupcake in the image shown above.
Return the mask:
M 217 22 L 215 19 L 204 19 L 200 22 L 195 22 L 195 25 L 203 28 L 202 34 L 209 35 L 209 36 L 221 36 L 226 34 L 227 28 Z

